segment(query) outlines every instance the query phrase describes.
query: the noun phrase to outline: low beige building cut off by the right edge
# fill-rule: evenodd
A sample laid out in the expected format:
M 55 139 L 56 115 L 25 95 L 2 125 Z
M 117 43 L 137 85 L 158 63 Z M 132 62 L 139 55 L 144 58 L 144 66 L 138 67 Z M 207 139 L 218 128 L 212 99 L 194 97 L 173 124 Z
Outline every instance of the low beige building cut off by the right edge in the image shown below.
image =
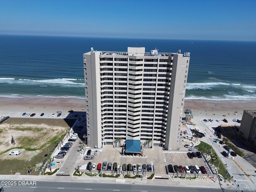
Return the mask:
M 256 110 L 244 110 L 239 136 L 256 146 Z

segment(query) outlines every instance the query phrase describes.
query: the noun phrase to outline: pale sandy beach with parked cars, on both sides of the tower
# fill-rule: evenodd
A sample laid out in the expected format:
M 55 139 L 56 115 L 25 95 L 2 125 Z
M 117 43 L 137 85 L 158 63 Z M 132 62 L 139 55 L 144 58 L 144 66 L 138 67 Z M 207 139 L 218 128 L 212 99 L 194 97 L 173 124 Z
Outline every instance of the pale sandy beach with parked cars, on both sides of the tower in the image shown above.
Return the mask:
M 83 109 L 84 108 L 84 109 Z M 0 116 L 24 117 L 24 112 L 35 113 L 33 118 L 64 118 L 57 117 L 56 112 L 62 111 L 62 114 L 68 114 L 69 110 L 78 112 L 86 111 L 85 99 L 79 98 L 8 98 L 0 97 Z M 215 100 L 185 100 L 184 110 L 190 109 L 193 112 L 194 120 L 196 119 L 219 119 L 234 118 L 241 119 L 243 110 L 255 110 L 256 100 L 238 101 L 215 101 Z M 236 112 L 236 113 L 235 113 Z M 44 116 L 40 116 L 44 113 Z M 55 114 L 54 117 L 51 117 Z M 226 114 L 226 117 L 223 115 Z M 185 114 L 184 114 L 185 116 Z

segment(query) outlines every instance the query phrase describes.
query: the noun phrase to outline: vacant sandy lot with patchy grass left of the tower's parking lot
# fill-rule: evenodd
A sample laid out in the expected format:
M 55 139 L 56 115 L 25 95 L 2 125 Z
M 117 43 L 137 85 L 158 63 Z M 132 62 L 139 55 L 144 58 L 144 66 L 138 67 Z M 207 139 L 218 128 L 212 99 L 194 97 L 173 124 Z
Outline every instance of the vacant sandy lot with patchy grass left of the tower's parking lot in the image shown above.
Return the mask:
M 50 153 L 68 128 L 70 127 L 63 119 L 9 118 L 0 124 L 0 174 L 3 174 L 2 168 L 8 166 L 3 165 L 3 162 L 12 164 L 20 160 L 31 164 L 34 169 L 41 166 L 43 157 L 37 156 Z M 12 136 L 15 144 L 11 143 Z M 21 153 L 10 156 L 9 152 L 12 150 L 20 150 Z

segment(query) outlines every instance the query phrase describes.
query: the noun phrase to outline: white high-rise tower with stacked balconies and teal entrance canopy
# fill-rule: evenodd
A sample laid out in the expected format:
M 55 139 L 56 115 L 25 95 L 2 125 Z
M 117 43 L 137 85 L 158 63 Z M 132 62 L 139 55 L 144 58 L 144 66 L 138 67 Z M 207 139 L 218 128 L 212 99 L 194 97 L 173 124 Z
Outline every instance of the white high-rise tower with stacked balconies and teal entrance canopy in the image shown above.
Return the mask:
M 126 152 L 150 146 L 176 150 L 190 53 L 91 48 L 83 56 L 88 146 L 121 140 Z

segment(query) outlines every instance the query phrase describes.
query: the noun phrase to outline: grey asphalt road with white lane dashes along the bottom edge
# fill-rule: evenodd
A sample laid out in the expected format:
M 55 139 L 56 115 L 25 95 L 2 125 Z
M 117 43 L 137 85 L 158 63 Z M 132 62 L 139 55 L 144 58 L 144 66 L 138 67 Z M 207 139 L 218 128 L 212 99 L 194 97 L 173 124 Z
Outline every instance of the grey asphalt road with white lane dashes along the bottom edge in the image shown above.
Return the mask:
M 18 182 L 18 181 L 17 181 Z M 109 183 L 85 183 L 85 182 L 51 182 L 36 181 L 31 186 L 4 186 L 4 192 L 222 192 L 218 188 L 183 187 L 163 185 L 140 184 L 109 184 Z M 225 192 L 234 192 L 234 189 L 225 189 Z

